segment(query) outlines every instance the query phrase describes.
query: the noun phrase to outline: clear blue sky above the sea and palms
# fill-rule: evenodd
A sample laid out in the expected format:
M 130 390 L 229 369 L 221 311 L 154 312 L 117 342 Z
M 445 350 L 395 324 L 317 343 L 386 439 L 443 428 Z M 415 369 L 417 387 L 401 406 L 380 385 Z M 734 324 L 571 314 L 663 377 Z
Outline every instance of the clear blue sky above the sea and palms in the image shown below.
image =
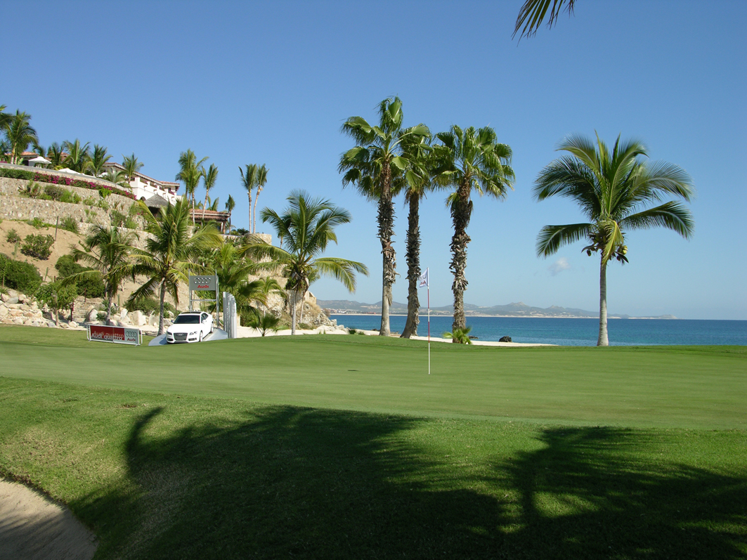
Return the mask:
M 347 208 L 328 256 L 365 263 L 356 293 L 312 284 L 318 299 L 381 300 L 376 205 L 343 188 L 350 116 L 376 120 L 399 96 L 406 126 L 491 126 L 515 171 L 506 199 L 474 198 L 465 302 L 598 310 L 598 258 L 583 242 L 536 256 L 543 225 L 577 223 L 564 199 L 532 188 L 569 134 L 642 140 L 654 161 L 692 177 L 695 235 L 627 234 L 630 264 L 610 264 L 610 313 L 747 320 L 747 2 L 579 0 L 573 16 L 512 40 L 521 0 L 273 2 L 4 2 L 0 105 L 31 114 L 40 143 L 102 144 L 143 173 L 173 181 L 180 152 L 219 169 L 211 197 L 236 200 L 238 167 L 269 169 L 258 210 L 282 211 L 292 190 Z M 32 25 L 33 24 L 33 25 Z M 197 196 L 205 191 L 199 188 Z M 449 305 L 446 193 L 421 203 L 421 267 L 430 303 Z M 406 302 L 407 208 L 396 200 L 394 300 Z M 258 221 L 258 231 L 271 233 Z M 734 243 L 733 243 L 734 242 Z M 275 240 L 277 243 L 277 240 Z M 421 290 L 421 302 L 426 293 Z

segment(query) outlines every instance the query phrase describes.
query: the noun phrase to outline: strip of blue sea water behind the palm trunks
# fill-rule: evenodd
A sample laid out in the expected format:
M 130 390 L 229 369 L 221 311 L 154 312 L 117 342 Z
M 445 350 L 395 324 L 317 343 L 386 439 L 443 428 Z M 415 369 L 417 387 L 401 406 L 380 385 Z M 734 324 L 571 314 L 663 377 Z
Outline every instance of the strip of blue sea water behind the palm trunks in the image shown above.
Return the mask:
M 379 329 L 380 315 L 332 315 L 348 329 Z M 406 317 L 389 318 L 392 332 L 402 332 Z M 451 317 L 431 317 L 431 337 L 451 330 Z M 508 335 L 513 342 L 595 346 L 598 319 L 542 319 L 530 317 L 467 317 L 470 335 L 478 340 L 499 340 Z M 747 346 L 747 321 L 684 319 L 610 319 L 607 321 L 610 346 L 657 344 L 728 344 Z M 421 316 L 418 335 L 428 334 L 427 317 Z

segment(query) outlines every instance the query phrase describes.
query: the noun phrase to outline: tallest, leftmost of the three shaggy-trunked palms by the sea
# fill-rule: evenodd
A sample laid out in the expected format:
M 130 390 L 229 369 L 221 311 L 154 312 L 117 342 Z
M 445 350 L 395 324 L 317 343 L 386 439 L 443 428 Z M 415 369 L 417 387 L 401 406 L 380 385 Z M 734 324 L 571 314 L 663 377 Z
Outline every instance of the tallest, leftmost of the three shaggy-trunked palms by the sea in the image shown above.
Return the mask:
M 382 247 L 382 304 L 379 334 L 389 335 L 391 287 L 397 274 L 391 236 L 394 229 L 394 204 L 398 176 L 408 166 L 402 143 L 409 137 L 427 137 L 430 131 L 420 124 L 402 128 L 402 102 L 398 97 L 384 99 L 379 104 L 379 124 L 370 125 L 362 116 L 351 116 L 342 125 L 342 132 L 352 137 L 356 146 L 340 158 L 338 170 L 344 172 L 342 184 L 354 184 L 369 200 L 379 204 L 379 240 Z

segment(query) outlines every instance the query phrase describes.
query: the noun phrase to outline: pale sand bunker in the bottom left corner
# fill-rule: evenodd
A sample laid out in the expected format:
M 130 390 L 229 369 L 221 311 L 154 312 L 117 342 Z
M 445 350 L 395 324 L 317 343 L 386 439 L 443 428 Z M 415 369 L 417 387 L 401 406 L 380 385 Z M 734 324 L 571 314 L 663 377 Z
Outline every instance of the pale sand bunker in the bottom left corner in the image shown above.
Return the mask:
M 67 508 L 0 480 L 0 560 L 90 560 L 96 537 Z

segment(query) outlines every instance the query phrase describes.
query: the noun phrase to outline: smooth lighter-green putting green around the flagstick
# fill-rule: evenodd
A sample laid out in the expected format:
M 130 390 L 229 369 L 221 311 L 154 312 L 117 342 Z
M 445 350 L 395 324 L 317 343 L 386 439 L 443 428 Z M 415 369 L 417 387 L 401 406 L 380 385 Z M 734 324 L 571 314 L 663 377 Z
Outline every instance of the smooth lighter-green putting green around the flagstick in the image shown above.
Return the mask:
M 605 426 L 747 428 L 741 346 L 495 348 L 362 336 L 188 346 L 0 328 L 1 375 L 395 414 Z M 31 359 L 33 358 L 33 359 Z

